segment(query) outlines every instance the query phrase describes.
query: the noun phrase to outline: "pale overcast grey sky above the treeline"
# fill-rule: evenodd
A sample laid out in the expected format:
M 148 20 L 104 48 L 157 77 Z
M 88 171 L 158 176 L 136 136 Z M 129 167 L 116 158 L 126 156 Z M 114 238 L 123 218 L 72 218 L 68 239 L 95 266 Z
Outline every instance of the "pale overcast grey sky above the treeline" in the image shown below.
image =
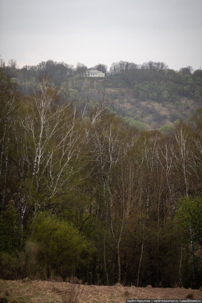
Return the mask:
M 89 68 L 120 60 L 202 67 L 202 0 L 0 0 L 0 55 Z

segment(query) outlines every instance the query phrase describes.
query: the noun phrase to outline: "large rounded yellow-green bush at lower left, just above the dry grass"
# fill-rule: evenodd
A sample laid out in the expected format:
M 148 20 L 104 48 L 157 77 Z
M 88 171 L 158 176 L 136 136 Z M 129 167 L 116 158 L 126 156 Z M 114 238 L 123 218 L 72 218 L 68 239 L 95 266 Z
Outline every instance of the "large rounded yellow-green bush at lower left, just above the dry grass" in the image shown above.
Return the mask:
M 38 247 L 38 260 L 50 274 L 63 278 L 90 261 L 94 249 L 86 238 L 67 221 L 39 213 L 32 236 Z

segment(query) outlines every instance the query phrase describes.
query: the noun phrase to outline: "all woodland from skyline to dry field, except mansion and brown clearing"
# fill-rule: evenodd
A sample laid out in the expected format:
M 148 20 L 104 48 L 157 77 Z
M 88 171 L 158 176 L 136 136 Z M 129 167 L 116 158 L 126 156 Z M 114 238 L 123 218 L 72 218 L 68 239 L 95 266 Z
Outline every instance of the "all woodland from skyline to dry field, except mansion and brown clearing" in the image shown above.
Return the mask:
M 120 61 L 99 82 L 81 63 L 16 65 L 0 68 L 2 278 L 200 287 L 202 108 L 146 130 L 119 97 L 199 107 L 202 72 Z

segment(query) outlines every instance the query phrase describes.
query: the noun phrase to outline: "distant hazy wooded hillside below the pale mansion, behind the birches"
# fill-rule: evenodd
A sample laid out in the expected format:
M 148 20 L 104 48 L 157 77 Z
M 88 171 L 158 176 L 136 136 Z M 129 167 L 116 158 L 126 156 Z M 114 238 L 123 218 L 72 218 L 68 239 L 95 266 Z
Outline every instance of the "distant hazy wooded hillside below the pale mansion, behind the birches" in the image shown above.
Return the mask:
M 39 78 L 49 76 L 51 81 L 64 88 L 65 96 L 60 100 L 89 103 L 108 100 L 108 109 L 115 115 L 125 117 L 130 125 L 139 130 L 157 129 L 186 120 L 200 107 L 202 102 L 202 71 L 194 71 L 191 66 L 179 71 L 169 69 L 165 62 L 113 62 L 94 67 L 105 73 L 105 78 L 82 77 L 87 66 L 77 66 L 48 60 L 35 66 L 16 68 L 16 61 L 10 59 L 8 65 L 1 59 L 1 66 L 18 85 L 18 91 L 31 95 L 36 90 Z M 81 104 L 81 107 L 83 105 Z

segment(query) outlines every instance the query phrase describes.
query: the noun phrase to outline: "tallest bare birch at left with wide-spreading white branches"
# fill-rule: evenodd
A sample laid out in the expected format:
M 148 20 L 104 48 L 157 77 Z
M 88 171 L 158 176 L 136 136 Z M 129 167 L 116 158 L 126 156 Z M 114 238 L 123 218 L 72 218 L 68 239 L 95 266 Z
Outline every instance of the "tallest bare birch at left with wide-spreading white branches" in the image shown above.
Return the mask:
M 72 112 L 68 105 L 57 106 L 59 93 L 57 87 L 43 79 L 34 100 L 25 104 L 19 122 L 24 129 L 23 138 L 19 138 L 22 133 L 16 135 L 16 142 L 23 141 L 18 154 L 21 181 L 17 210 L 21 229 L 26 212 L 58 208 L 60 197 L 71 190 L 71 178 L 83 166 L 76 109 Z

